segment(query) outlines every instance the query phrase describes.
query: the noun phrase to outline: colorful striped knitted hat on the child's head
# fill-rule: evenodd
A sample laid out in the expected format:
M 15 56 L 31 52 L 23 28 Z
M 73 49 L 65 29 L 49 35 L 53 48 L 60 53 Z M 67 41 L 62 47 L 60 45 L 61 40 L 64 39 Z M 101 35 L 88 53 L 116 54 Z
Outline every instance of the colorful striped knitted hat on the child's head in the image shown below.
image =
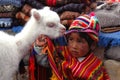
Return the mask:
M 96 42 L 98 42 L 98 33 L 100 26 L 98 19 L 94 14 L 82 15 L 77 17 L 70 25 L 66 34 L 71 32 L 86 32 Z

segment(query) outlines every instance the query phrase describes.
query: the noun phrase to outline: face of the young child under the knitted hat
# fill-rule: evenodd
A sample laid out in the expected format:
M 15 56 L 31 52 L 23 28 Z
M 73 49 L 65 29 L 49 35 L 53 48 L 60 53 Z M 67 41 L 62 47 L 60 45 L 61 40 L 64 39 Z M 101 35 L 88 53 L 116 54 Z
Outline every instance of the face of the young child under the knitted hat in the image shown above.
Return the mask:
M 88 42 L 79 33 L 71 33 L 68 37 L 68 49 L 72 56 L 83 57 L 89 52 Z

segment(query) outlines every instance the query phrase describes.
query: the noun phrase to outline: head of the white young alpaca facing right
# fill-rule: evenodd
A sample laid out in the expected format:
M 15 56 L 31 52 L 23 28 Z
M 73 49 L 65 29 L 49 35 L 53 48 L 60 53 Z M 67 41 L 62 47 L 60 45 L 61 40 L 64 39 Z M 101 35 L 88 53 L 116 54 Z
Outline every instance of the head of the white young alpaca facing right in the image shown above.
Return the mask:
M 60 23 L 60 18 L 58 14 L 49 9 L 49 7 L 44 7 L 43 9 L 37 10 L 32 9 L 31 15 L 36 21 L 36 26 L 40 27 L 40 34 L 49 36 L 50 38 L 57 38 L 62 36 L 65 32 L 65 27 Z

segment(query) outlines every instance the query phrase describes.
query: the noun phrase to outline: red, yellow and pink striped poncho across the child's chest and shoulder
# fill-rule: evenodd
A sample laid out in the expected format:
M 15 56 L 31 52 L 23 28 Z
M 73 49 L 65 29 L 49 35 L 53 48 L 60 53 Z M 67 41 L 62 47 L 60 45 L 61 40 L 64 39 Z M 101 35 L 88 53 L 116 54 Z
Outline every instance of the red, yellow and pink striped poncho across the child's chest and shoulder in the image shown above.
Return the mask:
M 69 59 L 62 63 L 62 69 L 68 80 L 110 80 L 102 61 L 93 53 L 82 62 L 69 55 L 66 58 Z

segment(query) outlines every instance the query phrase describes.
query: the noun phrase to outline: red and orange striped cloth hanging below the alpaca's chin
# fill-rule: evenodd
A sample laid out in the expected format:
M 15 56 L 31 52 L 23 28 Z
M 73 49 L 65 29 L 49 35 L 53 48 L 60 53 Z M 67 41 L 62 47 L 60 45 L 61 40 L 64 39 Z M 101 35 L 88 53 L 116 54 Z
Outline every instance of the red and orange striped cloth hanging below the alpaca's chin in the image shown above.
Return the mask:
M 45 48 L 45 52 L 48 53 L 49 64 L 52 68 L 51 80 L 64 80 L 62 75 L 61 62 L 63 60 L 63 54 L 67 52 L 67 44 L 64 37 L 59 37 L 51 41 L 47 38 L 48 46 Z

